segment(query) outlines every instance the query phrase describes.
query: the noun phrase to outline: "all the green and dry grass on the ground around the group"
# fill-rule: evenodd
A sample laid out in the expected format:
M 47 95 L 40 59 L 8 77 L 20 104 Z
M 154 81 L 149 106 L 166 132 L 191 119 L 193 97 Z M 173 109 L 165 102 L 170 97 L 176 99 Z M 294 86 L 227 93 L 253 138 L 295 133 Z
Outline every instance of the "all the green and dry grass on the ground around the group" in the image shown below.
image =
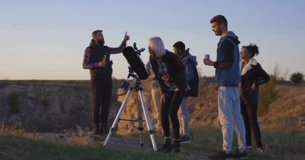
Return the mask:
M 77 131 L 65 130 L 65 133 L 74 135 L 67 139 L 67 144 L 55 141 L 40 140 L 35 134 L 28 134 L 20 125 L 6 125 L 0 123 L 0 159 L 191 159 L 192 153 L 201 152 L 204 155 L 222 148 L 222 133 L 220 128 L 209 126 L 191 126 L 191 143 L 182 144 L 182 152 L 188 155 L 175 153 L 159 153 L 140 151 L 134 148 L 117 149 L 102 147 L 102 143 L 90 143 L 88 128 L 77 127 Z M 113 135 L 112 135 L 113 136 Z M 144 145 L 151 146 L 150 136 L 143 131 Z M 139 132 L 125 136 L 139 141 Z M 155 134 L 157 146 L 161 146 L 164 137 Z M 262 131 L 262 141 L 267 150 L 265 154 L 256 151 L 254 138 L 253 151 L 248 152 L 250 159 L 305 159 L 305 133 Z M 234 137 L 233 148 L 237 148 Z

